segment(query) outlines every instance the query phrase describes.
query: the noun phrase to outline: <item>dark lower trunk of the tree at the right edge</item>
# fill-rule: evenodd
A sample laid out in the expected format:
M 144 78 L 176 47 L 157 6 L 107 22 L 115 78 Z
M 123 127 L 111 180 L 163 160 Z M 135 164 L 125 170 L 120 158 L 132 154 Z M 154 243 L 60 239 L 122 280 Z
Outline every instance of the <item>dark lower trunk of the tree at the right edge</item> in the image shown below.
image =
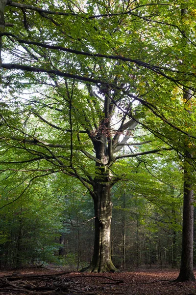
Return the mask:
M 180 273 L 176 281 L 195 281 L 193 273 L 193 224 L 194 224 L 194 191 L 190 174 L 184 171 L 184 202 L 182 227 L 182 254 Z

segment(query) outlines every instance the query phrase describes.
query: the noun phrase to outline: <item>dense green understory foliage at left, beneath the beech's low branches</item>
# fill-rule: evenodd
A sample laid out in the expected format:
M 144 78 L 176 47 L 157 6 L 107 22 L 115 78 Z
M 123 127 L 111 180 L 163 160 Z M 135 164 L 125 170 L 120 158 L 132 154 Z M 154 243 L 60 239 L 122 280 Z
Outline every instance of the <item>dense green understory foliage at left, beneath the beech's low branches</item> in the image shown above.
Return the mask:
M 15 195 L 23 191 L 16 178 L 13 180 L 15 187 L 8 182 L 2 188 L 1 204 L 13 202 Z M 10 194 L 10 191 L 14 193 Z M 49 187 L 37 181 L 18 202 L 0 210 L 1 267 L 39 265 L 55 260 L 54 252 L 59 244 L 54 241 L 62 227 L 59 215 L 61 207 L 58 199 L 55 200 L 50 194 Z

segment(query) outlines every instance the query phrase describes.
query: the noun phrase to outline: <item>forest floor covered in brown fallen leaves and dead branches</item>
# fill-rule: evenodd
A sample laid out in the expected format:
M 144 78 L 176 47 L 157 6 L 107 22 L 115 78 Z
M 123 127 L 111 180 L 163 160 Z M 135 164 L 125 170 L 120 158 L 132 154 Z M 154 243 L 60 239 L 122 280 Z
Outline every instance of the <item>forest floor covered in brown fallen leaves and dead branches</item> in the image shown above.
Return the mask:
M 0 271 L 0 295 L 196 295 L 196 282 L 172 282 L 178 273 L 158 268 L 101 274 L 24 268 Z

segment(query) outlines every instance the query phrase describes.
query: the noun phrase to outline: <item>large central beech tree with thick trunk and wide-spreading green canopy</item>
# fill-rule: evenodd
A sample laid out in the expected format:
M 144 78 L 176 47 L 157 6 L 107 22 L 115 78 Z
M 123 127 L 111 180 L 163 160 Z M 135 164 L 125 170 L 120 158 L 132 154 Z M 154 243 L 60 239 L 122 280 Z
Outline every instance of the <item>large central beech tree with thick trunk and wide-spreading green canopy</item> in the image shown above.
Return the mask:
M 195 113 L 186 116 L 178 89 L 195 93 L 195 39 L 180 29 L 179 4 L 0 0 L 1 162 L 36 177 L 65 173 L 89 190 L 95 244 L 87 271 L 116 270 L 110 192 L 125 177 L 123 158 L 172 148 L 186 157 L 184 138 L 194 147 L 188 125 Z M 193 29 L 194 9 L 190 1 Z M 138 126 L 165 146 L 151 148 L 145 133 L 135 141 Z

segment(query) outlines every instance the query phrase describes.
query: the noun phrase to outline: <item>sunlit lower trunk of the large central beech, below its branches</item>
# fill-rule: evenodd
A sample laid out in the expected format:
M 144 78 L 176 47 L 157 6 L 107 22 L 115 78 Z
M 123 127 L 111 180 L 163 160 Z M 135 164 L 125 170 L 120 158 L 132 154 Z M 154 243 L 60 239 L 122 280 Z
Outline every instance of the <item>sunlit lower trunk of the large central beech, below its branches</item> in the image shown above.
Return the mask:
M 86 272 L 107 272 L 117 271 L 111 259 L 111 202 L 112 185 L 98 183 L 95 190 L 97 199 L 94 199 L 95 206 L 95 241 L 92 263 L 81 271 Z

